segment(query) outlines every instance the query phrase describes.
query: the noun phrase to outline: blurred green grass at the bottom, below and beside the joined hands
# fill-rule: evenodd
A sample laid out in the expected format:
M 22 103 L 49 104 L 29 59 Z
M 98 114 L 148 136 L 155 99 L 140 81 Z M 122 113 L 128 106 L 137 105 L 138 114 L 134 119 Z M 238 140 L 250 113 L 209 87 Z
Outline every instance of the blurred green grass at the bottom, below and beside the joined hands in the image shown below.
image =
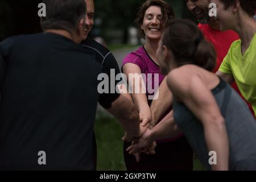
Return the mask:
M 98 171 L 125 171 L 123 160 L 124 131 L 117 119 L 98 117 L 95 127 L 97 140 L 97 170 Z M 194 160 L 194 170 L 204 171 L 199 160 Z

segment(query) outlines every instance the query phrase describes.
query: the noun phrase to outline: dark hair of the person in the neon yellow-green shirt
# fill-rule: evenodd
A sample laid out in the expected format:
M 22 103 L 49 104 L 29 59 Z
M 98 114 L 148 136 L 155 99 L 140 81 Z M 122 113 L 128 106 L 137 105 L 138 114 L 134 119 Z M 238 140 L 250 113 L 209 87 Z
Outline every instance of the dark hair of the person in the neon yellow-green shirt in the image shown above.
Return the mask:
M 236 3 L 236 0 L 220 0 L 224 6 L 225 9 L 228 9 L 229 6 L 234 5 Z M 249 16 L 254 16 L 255 15 L 255 10 L 256 10 L 256 0 L 239 0 L 240 5 Z

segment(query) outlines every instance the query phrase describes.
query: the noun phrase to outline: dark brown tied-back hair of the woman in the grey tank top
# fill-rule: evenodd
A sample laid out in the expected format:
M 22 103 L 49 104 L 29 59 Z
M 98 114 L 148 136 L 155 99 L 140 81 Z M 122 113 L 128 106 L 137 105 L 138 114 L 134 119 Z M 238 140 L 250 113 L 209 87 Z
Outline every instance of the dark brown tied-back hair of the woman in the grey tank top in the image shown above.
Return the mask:
M 172 52 L 179 66 L 195 64 L 213 71 L 216 64 L 215 49 L 191 20 L 174 19 L 168 22 L 162 43 Z

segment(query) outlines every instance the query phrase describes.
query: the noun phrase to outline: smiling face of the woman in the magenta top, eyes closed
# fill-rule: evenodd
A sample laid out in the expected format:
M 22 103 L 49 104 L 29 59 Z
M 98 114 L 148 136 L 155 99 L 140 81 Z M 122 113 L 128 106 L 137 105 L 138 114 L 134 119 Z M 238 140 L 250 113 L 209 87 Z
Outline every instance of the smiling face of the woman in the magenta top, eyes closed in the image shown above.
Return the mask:
M 159 39 L 163 33 L 162 12 L 158 6 L 150 6 L 144 15 L 141 26 L 146 39 Z

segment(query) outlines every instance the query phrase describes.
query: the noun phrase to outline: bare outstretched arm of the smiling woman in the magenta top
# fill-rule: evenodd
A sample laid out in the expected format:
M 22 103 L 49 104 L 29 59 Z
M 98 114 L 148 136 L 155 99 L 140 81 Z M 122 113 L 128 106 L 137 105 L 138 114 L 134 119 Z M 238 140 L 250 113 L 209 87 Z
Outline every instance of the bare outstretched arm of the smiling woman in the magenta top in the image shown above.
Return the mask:
M 142 79 L 139 79 L 138 84 L 136 81 L 136 79 L 138 80 L 138 76 L 141 75 L 141 69 L 138 67 L 138 65 L 127 63 L 123 66 L 123 73 L 125 73 L 125 75 L 128 78 L 129 87 L 133 90 L 133 93 L 131 94 L 131 96 L 133 98 L 134 104 L 137 106 L 137 109 L 139 111 L 139 119 L 143 123 L 150 122 L 151 121 L 150 107 L 148 106 L 146 93 L 142 92 L 144 81 Z M 133 74 L 133 75 L 137 74 L 137 77 L 129 78 L 129 74 Z

